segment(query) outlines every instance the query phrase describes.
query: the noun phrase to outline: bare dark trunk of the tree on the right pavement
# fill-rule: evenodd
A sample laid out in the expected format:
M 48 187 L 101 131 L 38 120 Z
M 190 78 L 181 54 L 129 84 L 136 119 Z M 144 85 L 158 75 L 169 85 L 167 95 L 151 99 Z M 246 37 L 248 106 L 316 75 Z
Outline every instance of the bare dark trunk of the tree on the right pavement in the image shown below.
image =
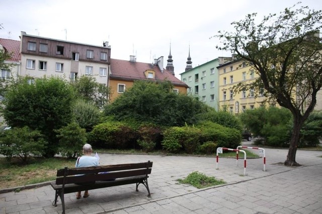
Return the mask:
M 286 166 L 298 166 L 299 164 L 295 161 L 297 144 L 299 142 L 300 130 L 302 128 L 302 118 L 299 116 L 294 116 L 293 133 L 290 142 L 290 148 L 288 149 L 288 154 L 284 165 Z

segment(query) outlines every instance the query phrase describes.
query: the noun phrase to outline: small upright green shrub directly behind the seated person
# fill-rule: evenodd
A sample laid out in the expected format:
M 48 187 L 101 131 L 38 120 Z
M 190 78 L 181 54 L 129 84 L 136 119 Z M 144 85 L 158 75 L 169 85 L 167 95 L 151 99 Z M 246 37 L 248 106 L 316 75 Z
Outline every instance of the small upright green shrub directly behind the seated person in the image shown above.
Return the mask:
M 59 139 L 59 151 L 63 157 L 74 158 L 82 154 L 83 145 L 86 143 L 86 130 L 76 122 L 55 130 Z

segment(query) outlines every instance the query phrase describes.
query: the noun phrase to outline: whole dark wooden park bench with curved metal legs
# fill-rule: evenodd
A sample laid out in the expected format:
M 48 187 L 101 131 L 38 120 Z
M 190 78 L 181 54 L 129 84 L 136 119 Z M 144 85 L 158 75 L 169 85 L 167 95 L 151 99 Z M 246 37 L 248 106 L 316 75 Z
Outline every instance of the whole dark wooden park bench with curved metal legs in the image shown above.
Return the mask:
M 147 161 L 144 163 L 117 164 L 70 169 L 65 167 L 64 169 L 58 169 L 56 181 L 50 183 L 50 185 L 56 191 L 55 200 L 53 201 L 52 205 L 57 206 L 59 196 L 62 204 L 62 213 L 65 213 L 64 194 L 133 183 L 136 183 L 136 191 L 138 191 L 138 185 L 140 183 L 143 184 L 147 189 L 147 196 L 150 197 L 147 178 L 148 174 L 151 173 L 152 163 L 153 162 Z M 79 185 L 79 183 L 84 182 L 90 184 Z

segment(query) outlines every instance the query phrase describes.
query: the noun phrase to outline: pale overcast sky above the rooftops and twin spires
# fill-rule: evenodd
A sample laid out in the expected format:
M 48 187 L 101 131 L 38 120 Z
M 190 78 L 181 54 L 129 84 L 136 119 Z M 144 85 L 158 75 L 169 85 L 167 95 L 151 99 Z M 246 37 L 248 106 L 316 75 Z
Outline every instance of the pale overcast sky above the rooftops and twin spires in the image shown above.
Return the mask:
M 293 6 L 298 0 L 1 0 L 0 38 L 20 40 L 21 31 L 53 39 L 111 45 L 111 58 L 150 63 L 170 51 L 175 74 L 185 71 L 189 53 L 196 67 L 219 56 L 218 42 L 209 39 L 247 14 L 262 18 Z M 303 0 L 302 6 L 321 10 L 322 1 Z

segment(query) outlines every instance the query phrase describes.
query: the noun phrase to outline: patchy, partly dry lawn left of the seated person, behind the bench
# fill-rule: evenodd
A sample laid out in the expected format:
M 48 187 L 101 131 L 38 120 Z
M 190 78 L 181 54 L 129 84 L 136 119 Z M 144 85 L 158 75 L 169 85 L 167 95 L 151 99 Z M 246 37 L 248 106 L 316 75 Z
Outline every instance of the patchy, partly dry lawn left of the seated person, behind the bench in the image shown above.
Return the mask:
M 0 188 L 23 186 L 56 179 L 57 169 L 75 167 L 75 160 L 65 158 L 34 158 L 29 164 L 0 158 Z

